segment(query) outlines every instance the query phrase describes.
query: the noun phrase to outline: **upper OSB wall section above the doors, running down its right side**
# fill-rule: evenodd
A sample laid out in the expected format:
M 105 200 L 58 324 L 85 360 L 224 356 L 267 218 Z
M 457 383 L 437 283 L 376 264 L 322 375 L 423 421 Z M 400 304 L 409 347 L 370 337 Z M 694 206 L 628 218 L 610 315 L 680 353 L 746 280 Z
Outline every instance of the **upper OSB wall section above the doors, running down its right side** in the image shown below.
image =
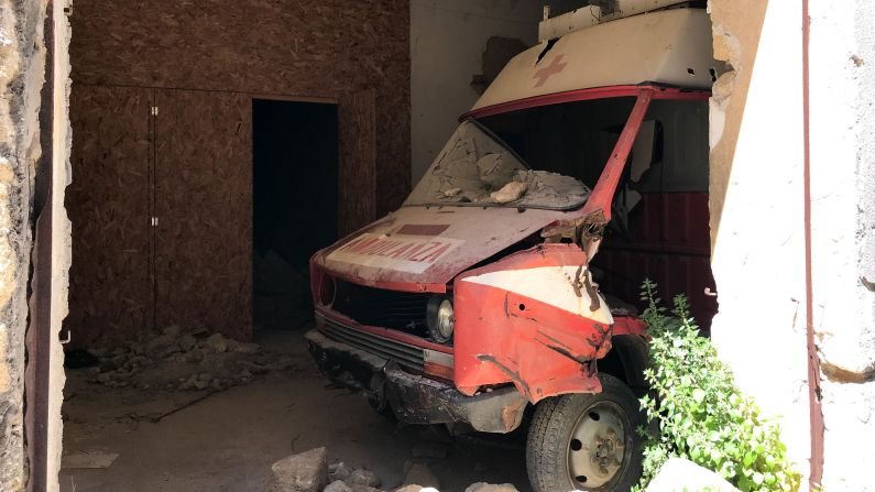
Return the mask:
M 408 0 L 81 0 L 73 79 L 376 98 L 378 214 L 409 187 Z

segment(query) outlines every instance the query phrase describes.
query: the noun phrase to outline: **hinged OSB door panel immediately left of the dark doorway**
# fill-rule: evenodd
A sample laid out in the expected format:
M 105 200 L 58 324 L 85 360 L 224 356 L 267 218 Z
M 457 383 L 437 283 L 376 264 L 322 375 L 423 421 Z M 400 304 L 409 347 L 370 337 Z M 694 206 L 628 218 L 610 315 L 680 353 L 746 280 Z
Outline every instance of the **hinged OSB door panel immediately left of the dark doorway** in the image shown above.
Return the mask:
M 155 305 L 158 328 L 252 332 L 252 102 L 157 90 Z

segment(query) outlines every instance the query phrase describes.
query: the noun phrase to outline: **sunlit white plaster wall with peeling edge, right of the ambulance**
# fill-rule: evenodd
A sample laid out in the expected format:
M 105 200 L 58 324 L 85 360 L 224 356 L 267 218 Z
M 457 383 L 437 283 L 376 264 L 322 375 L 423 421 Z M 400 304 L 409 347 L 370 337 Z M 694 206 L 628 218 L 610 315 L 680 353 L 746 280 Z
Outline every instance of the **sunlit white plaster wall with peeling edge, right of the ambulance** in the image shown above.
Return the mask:
M 777 416 L 809 472 L 801 2 L 711 0 L 712 337 L 742 389 Z M 813 326 L 823 368 L 825 490 L 875 490 L 873 7 L 811 2 Z

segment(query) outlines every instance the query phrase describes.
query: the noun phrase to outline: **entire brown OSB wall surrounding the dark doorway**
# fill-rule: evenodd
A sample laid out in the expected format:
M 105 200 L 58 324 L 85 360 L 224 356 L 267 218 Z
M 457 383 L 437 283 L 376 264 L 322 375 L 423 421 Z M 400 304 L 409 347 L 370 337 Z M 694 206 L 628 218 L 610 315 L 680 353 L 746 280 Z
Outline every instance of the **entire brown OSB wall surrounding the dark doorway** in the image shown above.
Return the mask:
M 362 192 L 363 183 L 352 179 L 358 175 L 348 173 L 341 201 L 346 194 L 353 208 L 364 204 L 364 214 L 348 214 L 361 222 L 406 196 L 407 0 L 81 0 L 70 20 L 79 157 L 68 200 L 75 258 L 67 325 L 80 340 L 111 343 L 174 324 L 249 337 L 254 95 L 331 99 L 346 114 L 361 108 L 344 101 L 354 106 L 367 95 L 370 144 L 347 139 L 341 157 L 349 166 L 352 150 L 367 151 L 371 189 Z M 125 91 L 139 91 L 140 106 Z M 160 116 L 150 119 L 153 103 Z M 361 135 L 362 121 L 341 118 L 340 134 Z M 151 155 L 142 128 L 155 132 Z M 143 181 L 133 185 L 136 166 Z M 113 211 L 133 214 L 131 200 L 143 208 L 134 210 L 136 227 Z M 143 233 L 153 263 L 141 274 L 125 252 L 139 247 L 124 244 L 153 214 L 158 226 Z

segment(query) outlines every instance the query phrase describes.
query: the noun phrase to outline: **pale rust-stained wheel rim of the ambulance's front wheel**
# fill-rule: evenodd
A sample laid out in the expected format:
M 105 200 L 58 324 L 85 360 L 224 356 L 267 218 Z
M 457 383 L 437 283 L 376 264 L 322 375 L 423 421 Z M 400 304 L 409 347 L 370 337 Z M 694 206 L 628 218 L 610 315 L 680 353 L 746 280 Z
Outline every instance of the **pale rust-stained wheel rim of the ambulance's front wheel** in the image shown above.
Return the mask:
M 623 411 L 611 402 L 599 402 L 583 412 L 568 441 L 571 483 L 598 489 L 622 471 L 626 455 L 625 422 Z

